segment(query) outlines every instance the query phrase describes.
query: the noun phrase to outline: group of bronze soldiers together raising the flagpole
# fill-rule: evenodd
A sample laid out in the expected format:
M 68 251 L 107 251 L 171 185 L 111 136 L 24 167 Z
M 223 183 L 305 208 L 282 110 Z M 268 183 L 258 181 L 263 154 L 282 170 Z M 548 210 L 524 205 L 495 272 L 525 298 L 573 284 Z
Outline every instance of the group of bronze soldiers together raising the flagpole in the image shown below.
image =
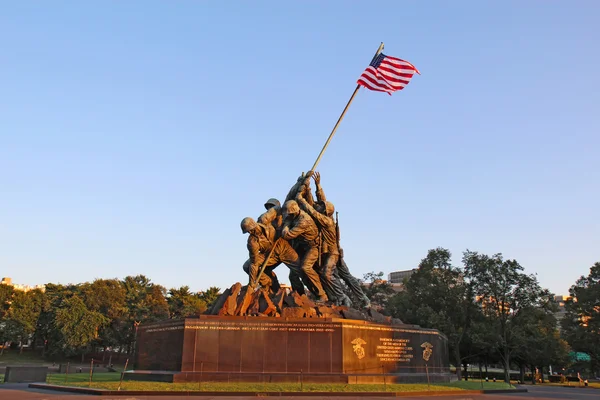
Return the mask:
M 310 180 L 316 185 L 314 200 Z M 352 306 L 344 293 L 344 285 L 360 299 L 360 306 L 369 307 L 360 282 L 350 274 L 339 245 L 339 227 L 333 219 L 335 208 L 325 198 L 321 176 L 310 171 L 301 175 L 288 193 L 283 207 L 277 199 L 265 203 L 266 212 L 255 221 L 242 220 L 243 233 L 248 233 L 250 258 L 244 271 L 250 285 L 266 290 L 279 290 L 274 269 L 285 264 L 290 270 L 292 290 L 305 294 L 304 287 L 320 302 Z

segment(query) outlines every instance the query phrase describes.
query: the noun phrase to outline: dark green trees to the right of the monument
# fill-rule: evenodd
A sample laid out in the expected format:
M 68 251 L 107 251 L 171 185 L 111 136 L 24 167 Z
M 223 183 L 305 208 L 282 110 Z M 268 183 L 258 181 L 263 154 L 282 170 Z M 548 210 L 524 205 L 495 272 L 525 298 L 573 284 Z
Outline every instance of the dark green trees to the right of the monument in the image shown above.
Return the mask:
M 551 365 L 555 371 L 568 366 L 571 351 L 591 357 L 591 374 L 600 365 L 600 263 L 571 287 L 560 321 L 554 295 L 502 254 L 466 250 L 459 267 L 452 265 L 449 250 L 436 248 L 399 293 L 382 278 L 383 273 L 365 275 L 368 295 L 384 314 L 443 332 L 459 379 L 467 364 L 499 363 L 505 381 L 515 367 L 523 380 L 525 368 L 543 373 Z

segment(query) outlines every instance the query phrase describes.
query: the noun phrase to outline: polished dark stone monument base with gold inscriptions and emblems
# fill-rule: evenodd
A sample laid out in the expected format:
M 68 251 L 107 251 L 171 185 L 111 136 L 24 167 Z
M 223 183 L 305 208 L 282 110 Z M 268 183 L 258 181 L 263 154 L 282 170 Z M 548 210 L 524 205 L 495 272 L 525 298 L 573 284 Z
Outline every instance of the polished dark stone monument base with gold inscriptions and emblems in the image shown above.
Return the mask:
M 128 380 L 448 382 L 446 337 L 414 325 L 336 318 L 201 316 L 138 328 Z

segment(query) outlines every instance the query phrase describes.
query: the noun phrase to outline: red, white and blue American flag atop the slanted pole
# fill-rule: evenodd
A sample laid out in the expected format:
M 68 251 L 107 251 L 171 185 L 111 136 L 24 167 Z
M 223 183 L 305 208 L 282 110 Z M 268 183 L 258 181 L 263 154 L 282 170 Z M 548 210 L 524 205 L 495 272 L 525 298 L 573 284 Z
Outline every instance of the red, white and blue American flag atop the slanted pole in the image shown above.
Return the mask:
M 408 61 L 379 53 L 356 83 L 367 89 L 391 95 L 392 92 L 404 89 L 415 72 L 421 74 Z

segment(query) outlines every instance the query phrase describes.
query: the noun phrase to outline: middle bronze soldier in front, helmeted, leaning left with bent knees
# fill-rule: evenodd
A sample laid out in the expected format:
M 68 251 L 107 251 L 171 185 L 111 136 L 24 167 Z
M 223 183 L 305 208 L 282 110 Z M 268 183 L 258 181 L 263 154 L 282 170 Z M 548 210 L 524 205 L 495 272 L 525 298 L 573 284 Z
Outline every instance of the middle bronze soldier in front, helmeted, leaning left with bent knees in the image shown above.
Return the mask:
M 283 230 L 281 237 L 285 240 L 294 240 L 294 245 L 302 258 L 296 269 L 302 277 L 306 287 L 319 299 L 327 301 L 327 294 L 323 290 L 319 274 L 313 268 L 319 258 L 319 229 L 306 212 L 302 211 L 295 200 L 288 200 L 283 204 Z

